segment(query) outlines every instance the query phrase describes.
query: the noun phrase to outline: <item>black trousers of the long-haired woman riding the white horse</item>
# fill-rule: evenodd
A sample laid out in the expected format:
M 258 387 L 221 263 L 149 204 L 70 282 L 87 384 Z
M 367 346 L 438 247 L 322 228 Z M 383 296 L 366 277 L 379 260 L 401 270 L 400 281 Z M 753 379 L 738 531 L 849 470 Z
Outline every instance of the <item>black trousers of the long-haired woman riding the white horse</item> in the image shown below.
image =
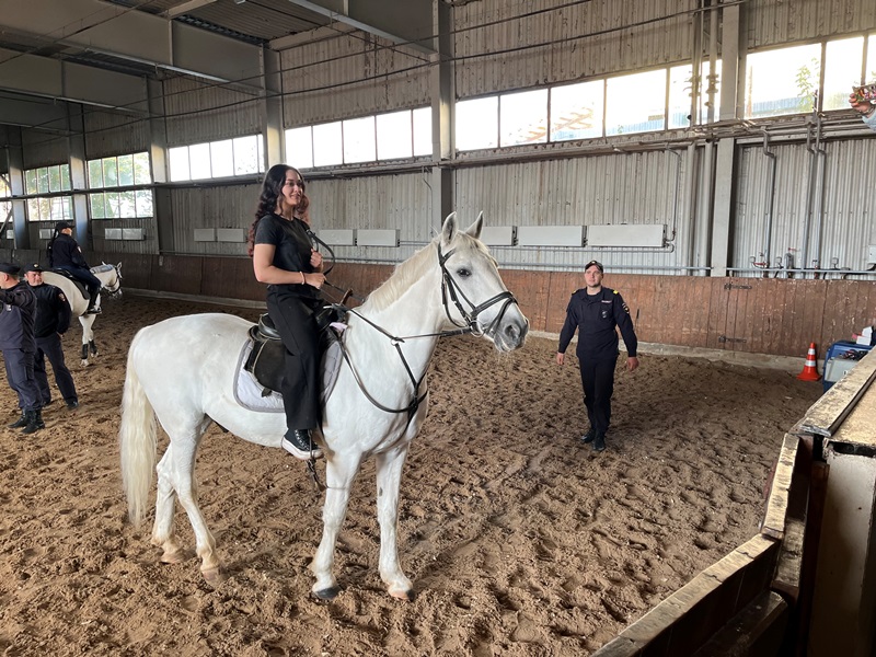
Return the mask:
M 267 312 L 286 347 L 286 376 L 280 385 L 289 429 L 320 425 L 320 331 L 313 313 L 319 299 L 268 290 Z

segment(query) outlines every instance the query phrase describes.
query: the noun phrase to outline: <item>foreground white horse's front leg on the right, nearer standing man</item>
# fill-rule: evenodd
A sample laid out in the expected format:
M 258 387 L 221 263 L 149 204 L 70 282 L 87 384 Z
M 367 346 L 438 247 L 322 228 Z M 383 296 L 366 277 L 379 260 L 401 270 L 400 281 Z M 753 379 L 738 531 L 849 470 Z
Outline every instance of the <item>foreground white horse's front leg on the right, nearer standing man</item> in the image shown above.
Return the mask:
M 393 598 L 412 601 L 414 587 L 399 563 L 399 488 L 407 446 L 377 457 L 377 518 L 380 522 L 380 578 Z

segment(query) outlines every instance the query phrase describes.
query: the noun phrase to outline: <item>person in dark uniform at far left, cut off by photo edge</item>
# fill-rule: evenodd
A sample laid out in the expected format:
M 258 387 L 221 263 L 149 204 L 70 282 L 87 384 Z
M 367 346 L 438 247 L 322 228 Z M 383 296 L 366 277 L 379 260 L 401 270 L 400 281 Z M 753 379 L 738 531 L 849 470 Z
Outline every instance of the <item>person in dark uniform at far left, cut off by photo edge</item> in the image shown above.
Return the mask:
M 24 434 L 45 428 L 43 403 L 34 378 L 34 312 L 36 297 L 18 274 L 21 267 L 0 263 L 0 351 L 7 368 L 9 387 L 19 395 L 21 417 L 9 425 L 12 429 L 23 427 Z

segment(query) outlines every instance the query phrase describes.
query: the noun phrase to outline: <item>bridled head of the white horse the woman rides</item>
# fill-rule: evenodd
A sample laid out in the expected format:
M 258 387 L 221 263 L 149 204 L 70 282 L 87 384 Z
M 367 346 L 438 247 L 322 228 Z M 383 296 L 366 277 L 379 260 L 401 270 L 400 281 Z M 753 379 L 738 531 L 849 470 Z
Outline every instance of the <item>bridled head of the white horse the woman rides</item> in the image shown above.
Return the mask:
M 450 214 L 437 238 L 441 300 L 450 323 L 489 338 L 499 351 L 523 346 L 529 322 L 499 276 L 496 261 L 481 242 L 484 214 L 468 230 Z

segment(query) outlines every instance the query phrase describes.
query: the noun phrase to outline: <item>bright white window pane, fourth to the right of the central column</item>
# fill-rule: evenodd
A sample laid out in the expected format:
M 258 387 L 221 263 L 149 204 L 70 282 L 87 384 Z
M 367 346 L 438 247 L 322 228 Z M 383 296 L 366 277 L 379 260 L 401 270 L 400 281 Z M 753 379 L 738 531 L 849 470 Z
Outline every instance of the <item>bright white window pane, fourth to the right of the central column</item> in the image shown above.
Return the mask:
M 648 71 L 606 80 L 606 135 L 662 130 L 668 71 Z

